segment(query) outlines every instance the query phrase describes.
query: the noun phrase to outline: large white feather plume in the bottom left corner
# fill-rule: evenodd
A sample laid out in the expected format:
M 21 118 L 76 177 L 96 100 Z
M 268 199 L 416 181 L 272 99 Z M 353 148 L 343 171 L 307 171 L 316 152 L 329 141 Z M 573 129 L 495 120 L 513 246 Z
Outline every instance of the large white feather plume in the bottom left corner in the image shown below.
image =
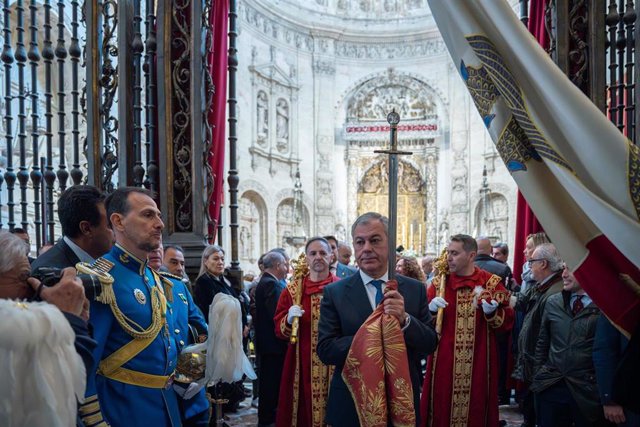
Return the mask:
M 0 319 L 2 425 L 75 425 L 86 371 L 69 321 L 54 305 L 11 300 L 0 300 Z

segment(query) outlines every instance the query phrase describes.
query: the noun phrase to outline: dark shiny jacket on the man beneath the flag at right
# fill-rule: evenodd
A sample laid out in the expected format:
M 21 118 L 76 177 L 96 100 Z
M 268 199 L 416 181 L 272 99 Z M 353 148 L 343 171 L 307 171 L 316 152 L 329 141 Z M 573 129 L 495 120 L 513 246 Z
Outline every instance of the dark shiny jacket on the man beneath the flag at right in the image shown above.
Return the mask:
M 591 425 L 602 425 L 602 408 L 593 365 L 593 342 L 600 309 L 592 302 L 575 317 L 571 293 L 549 297 L 536 345 L 531 391 L 539 393 L 564 381 Z

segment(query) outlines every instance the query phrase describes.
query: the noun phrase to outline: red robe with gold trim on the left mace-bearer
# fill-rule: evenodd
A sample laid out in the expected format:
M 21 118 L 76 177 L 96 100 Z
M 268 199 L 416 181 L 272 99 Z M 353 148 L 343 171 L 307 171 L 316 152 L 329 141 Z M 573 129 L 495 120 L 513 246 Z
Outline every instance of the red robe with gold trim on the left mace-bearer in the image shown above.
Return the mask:
M 291 326 L 287 323 L 289 308 L 295 295 L 300 295 L 304 314 L 300 318 L 297 344 L 289 344 L 280 381 L 276 426 L 311 427 L 324 425 L 325 404 L 333 368 L 325 366 L 316 353 L 318 321 L 322 289 L 339 279 L 331 274 L 320 282 L 304 278 L 303 289 L 291 281 L 282 291 L 274 316 L 276 336 L 289 341 Z

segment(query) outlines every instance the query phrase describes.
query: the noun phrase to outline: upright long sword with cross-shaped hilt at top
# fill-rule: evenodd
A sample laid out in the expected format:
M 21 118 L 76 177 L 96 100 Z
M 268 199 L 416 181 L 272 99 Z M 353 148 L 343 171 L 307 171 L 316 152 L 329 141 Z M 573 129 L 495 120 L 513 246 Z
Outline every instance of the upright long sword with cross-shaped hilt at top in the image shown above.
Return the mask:
M 396 235 L 398 218 L 396 211 L 398 210 L 398 156 L 413 154 L 410 151 L 398 151 L 398 123 L 400 123 L 400 115 L 396 113 L 395 108 L 387 114 L 387 122 L 390 125 L 389 149 L 375 150 L 374 153 L 387 154 L 389 156 L 389 280 L 395 279 L 396 269 Z

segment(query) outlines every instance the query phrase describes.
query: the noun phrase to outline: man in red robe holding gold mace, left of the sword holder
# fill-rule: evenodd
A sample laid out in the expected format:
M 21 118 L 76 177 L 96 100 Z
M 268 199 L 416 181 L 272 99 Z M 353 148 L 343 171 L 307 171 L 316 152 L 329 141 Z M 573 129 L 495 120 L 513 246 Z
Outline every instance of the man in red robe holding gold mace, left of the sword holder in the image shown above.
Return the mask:
M 324 409 L 333 369 L 316 353 L 322 290 L 338 280 L 330 273 L 333 253 L 329 242 L 314 237 L 305 247 L 308 274 L 294 274 L 282 291 L 274 317 L 276 336 L 289 341 L 293 319 L 299 318 L 298 339 L 290 344 L 280 382 L 276 426 L 324 425 Z M 300 267 L 298 267 L 300 268 Z

